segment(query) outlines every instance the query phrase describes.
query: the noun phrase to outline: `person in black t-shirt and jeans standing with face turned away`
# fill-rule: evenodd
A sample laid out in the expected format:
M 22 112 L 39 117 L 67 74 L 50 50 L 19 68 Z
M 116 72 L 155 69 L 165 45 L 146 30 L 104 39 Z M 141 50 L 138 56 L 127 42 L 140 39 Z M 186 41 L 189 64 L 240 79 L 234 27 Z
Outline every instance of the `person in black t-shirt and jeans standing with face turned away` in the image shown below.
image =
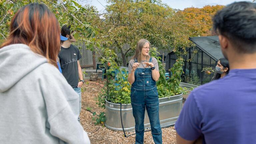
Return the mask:
M 71 44 L 72 42 L 76 42 L 76 39 L 73 37 L 73 33 L 70 32 L 70 26 L 64 25 L 61 28 L 61 35 L 67 37 L 68 40 L 62 41 L 61 50 L 59 52 L 58 58 L 60 60 L 60 66 L 63 76 L 66 78 L 67 82 L 73 87 L 73 89 L 79 94 L 80 101 L 79 104 L 77 104 L 77 110 L 80 113 L 81 87 L 84 83 L 82 69 L 79 63 L 79 59 L 81 59 L 82 56 L 79 52 L 79 49 L 75 45 Z M 80 122 L 80 117 L 78 117 L 78 121 Z

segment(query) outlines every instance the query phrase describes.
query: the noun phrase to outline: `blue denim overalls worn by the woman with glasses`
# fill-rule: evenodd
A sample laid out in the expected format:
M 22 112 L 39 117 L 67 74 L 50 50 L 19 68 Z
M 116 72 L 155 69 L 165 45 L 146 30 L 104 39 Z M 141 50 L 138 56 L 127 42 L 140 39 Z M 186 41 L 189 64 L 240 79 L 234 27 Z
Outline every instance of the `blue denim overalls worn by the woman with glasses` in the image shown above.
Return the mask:
M 137 62 L 137 59 L 135 59 Z M 150 58 L 149 62 L 152 62 Z M 162 144 L 162 130 L 159 121 L 159 100 L 156 81 L 153 80 L 150 68 L 137 68 L 135 81 L 131 87 L 132 113 L 135 119 L 135 144 L 144 142 L 144 116 L 147 109 L 151 133 L 155 144 Z

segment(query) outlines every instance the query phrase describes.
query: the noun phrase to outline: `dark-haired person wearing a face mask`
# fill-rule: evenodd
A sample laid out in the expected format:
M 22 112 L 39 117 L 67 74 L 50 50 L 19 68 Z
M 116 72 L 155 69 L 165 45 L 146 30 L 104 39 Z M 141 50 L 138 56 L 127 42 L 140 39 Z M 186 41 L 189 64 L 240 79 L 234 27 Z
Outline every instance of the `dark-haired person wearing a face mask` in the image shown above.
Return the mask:
M 217 65 L 215 67 L 215 76 L 212 80 L 217 80 L 223 78 L 229 72 L 229 63 L 226 58 L 221 58 L 218 60 Z

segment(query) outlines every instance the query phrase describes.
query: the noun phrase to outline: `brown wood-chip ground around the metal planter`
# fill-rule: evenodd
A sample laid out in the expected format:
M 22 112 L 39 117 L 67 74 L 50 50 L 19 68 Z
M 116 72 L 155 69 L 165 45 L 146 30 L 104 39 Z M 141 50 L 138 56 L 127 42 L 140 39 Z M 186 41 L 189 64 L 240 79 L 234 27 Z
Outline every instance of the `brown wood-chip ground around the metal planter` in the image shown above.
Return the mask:
M 82 86 L 82 110 L 80 118 L 84 130 L 88 133 L 92 144 L 134 144 L 135 135 L 125 138 L 123 132 L 109 130 L 102 125 L 94 125 L 95 121 L 92 120 L 93 115 L 91 112 L 96 112 L 97 114 L 103 111 L 105 112 L 105 109 L 98 107 L 94 100 L 103 86 L 104 82 L 101 80 L 86 80 Z M 91 112 L 87 110 L 88 108 L 91 109 Z M 162 132 L 163 144 L 176 144 L 176 132 L 173 127 L 163 128 Z M 127 133 L 127 135 L 133 133 L 135 132 Z M 145 132 L 144 144 L 154 144 L 151 131 Z

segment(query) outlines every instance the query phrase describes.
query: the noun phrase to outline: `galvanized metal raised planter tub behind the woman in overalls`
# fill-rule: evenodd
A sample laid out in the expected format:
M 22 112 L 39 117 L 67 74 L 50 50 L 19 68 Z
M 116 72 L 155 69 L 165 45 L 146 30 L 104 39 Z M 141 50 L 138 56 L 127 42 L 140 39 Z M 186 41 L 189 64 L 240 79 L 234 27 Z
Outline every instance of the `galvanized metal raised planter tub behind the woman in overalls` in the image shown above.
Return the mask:
M 161 127 L 174 125 L 182 108 L 182 94 L 159 99 L 159 118 Z M 122 104 L 122 121 L 125 131 L 135 130 L 135 121 L 132 115 L 132 105 Z M 106 123 L 108 129 L 122 131 L 120 104 L 106 101 Z M 145 129 L 150 129 L 147 112 L 144 119 Z

